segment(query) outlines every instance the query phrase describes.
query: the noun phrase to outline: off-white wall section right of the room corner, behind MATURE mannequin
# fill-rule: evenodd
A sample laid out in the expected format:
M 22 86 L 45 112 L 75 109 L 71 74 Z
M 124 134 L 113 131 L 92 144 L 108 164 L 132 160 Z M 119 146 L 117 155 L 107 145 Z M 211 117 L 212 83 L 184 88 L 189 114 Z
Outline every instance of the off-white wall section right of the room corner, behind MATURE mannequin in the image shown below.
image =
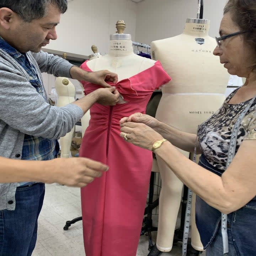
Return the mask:
M 209 35 L 219 35 L 226 0 L 204 0 L 203 18 L 210 20 Z M 197 18 L 197 0 L 146 0 L 137 4 L 135 41 L 152 41 L 181 34 L 187 18 Z

